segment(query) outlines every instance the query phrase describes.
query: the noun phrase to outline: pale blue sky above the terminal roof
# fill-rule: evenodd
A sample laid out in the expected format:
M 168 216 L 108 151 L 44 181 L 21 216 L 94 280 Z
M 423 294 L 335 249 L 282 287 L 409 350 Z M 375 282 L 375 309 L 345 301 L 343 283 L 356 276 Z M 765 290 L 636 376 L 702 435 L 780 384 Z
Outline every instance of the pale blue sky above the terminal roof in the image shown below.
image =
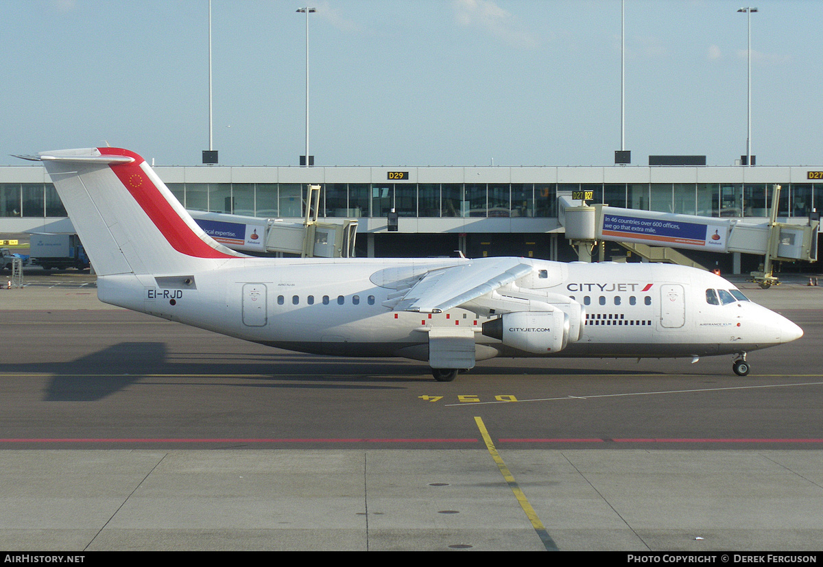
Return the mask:
M 625 146 L 823 164 L 821 0 L 625 0 Z M 212 0 L 221 165 L 304 153 L 300 1 Z M 620 0 L 319 0 L 309 17 L 317 165 L 609 165 L 620 149 Z M 207 0 L 2 0 L 0 164 L 208 147 Z

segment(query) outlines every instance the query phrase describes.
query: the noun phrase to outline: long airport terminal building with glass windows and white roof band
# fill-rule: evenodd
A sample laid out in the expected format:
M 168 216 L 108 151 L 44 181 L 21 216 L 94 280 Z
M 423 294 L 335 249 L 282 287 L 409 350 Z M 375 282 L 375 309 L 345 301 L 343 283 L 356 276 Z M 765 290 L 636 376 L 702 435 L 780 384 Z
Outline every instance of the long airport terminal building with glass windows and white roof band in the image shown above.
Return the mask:
M 821 166 L 268 167 L 156 166 L 188 210 L 300 221 L 309 184 L 320 217 L 359 221 L 360 257 L 525 256 L 576 259 L 557 197 L 590 191 L 592 203 L 686 215 L 767 218 L 780 184 L 781 221 L 807 224 L 823 208 Z M 398 230 L 387 216 L 398 212 Z M 72 232 L 40 165 L 0 167 L 0 233 Z M 714 254 L 722 257 L 723 254 Z M 744 262 L 744 271 L 757 258 Z M 711 267 L 731 271 L 727 258 Z M 756 267 L 756 265 L 755 265 Z M 752 268 L 753 269 L 753 268 Z

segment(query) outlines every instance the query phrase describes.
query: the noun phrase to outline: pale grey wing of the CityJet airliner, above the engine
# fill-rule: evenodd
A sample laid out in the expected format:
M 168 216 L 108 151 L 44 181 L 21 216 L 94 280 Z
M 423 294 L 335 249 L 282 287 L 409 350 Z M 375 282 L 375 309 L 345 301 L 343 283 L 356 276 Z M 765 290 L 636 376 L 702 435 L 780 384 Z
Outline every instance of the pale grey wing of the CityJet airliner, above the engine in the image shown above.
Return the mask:
M 441 313 L 486 295 L 532 272 L 521 258 L 477 258 L 458 266 L 432 270 L 421 277 L 393 309 Z

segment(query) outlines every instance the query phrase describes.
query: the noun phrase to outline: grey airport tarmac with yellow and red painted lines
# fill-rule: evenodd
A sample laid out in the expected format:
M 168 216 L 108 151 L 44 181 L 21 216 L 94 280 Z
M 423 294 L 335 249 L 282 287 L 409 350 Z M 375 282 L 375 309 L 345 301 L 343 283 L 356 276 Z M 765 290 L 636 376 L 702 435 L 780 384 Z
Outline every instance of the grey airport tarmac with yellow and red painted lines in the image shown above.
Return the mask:
M 16 551 L 820 551 L 823 287 L 731 358 L 306 356 L 0 290 L 0 546 Z

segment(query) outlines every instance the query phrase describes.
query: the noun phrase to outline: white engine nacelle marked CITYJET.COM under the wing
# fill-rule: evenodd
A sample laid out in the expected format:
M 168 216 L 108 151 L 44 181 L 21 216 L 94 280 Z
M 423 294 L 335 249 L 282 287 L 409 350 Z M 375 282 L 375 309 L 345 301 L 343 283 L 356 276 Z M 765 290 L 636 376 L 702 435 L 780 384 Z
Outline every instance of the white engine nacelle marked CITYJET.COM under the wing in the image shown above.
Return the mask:
M 536 355 L 551 355 L 565 349 L 569 329 L 569 316 L 560 309 L 507 313 L 483 323 L 486 337 Z

